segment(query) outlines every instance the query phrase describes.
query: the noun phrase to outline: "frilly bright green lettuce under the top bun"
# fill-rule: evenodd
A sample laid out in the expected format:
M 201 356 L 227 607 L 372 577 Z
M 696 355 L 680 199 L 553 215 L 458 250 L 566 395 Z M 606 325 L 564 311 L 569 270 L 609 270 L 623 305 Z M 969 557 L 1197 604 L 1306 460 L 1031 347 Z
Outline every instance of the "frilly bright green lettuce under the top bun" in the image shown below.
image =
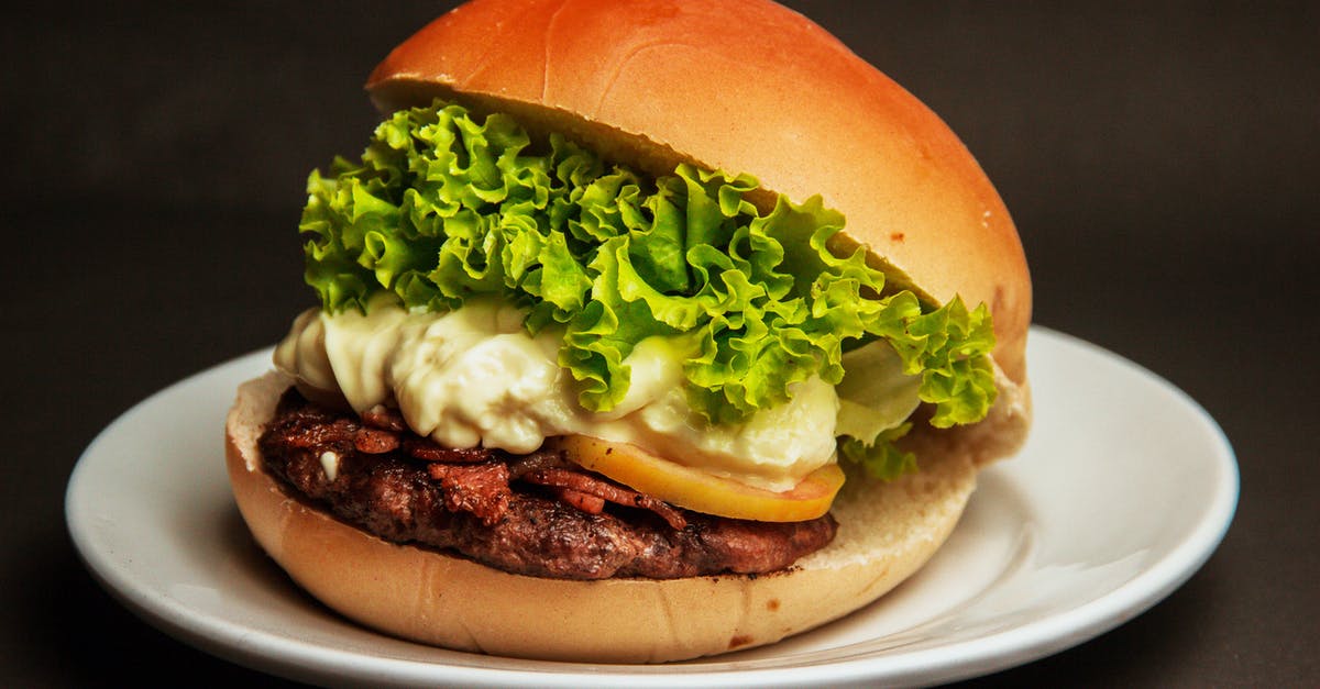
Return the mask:
M 810 376 L 840 383 L 845 351 L 875 341 L 920 376 L 933 425 L 982 418 L 995 396 L 985 305 L 886 293 L 865 249 L 826 248 L 841 214 L 820 197 L 763 213 L 756 187 L 690 165 L 651 178 L 437 100 L 383 121 L 359 161 L 310 174 L 305 277 L 333 313 L 380 292 L 436 312 L 491 294 L 520 305 L 528 331 L 562 327 L 558 363 L 591 410 L 623 399 L 628 354 L 661 335 L 685 355 L 692 408 L 715 424 L 784 403 Z M 845 436 L 841 454 L 876 475 L 907 470 L 892 445 L 903 429 Z

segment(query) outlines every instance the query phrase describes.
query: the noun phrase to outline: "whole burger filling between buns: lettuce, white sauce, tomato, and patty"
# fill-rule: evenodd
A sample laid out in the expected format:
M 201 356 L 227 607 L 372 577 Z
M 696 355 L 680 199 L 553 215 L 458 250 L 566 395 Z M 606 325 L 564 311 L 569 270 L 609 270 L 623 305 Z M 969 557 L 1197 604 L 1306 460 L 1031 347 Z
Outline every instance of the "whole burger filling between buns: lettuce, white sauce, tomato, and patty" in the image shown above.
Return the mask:
M 744 174 L 649 177 L 437 100 L 308 190 L 322 304 L 276 364 L 317 404 L 286 404 L 272 471 L 392 540 L 574 578 L 781 568 L 833 535 L 840 458 L 912 471 L 912 418 L 975 422 L 995 397 L 985 305 L 935 304 L 840 251 L 843 216 L 818 197 Z M 354 424 L 348 445 L 325 430 Z M 372 445 L 384 432 L 397 445 Z M 779 524 L 708 516 L 746 504 Z M 594 564 L 549 552 L 568 542 Z

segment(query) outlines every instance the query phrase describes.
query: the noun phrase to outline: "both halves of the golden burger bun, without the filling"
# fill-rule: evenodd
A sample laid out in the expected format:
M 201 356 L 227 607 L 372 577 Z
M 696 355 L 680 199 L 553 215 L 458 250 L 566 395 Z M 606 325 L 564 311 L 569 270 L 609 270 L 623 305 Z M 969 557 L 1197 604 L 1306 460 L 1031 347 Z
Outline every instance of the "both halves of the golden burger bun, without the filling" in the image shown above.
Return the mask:
M 652 174 L 680 162 L 755 176 L 770 203 L 821 195 L 837 248 L 869 247 L 891 285 L 994 318 L 999 395 L 969 426 L 902 441 L 920 471 L 849 480 L 838 536 L 787 572 L 545 579 L 385 542 L 288 495 L 256 438 L 292 380 L 246 384 L 227 422 L 234 492 L 261 546 L 331 608 L 405 639 L 576 661 L 667 661 L 750 648 L 851 612 L 919 569 L 981 465 L 1030 425 L 1031 285 L 1012 220 L 948 127 L 803 16 L 764 0 L 477 0 L 395 49 L 368 81 L 383 111 L 458 102 L 561 132 Z

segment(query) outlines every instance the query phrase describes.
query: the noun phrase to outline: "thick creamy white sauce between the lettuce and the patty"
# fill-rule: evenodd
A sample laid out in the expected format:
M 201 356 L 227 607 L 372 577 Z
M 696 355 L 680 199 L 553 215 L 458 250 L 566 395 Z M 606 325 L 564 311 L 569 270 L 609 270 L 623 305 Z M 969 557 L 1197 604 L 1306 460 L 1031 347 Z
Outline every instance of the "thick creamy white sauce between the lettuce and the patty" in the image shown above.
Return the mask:
M 652 338 L 624 360 L 631 384 L 620 404 L 589 412 L 557 363 L 562 330 L 533 338 L 523 317 L 490 301 L 447 313 L 387 301 L 367 314 L 313 309 L 294 321 L 275 363 L 305 388 L 342 395 L 359 413 L 397 407 L 416 433 L 451 447 L 529 453 L 548 437 L 585 434 L 776 491 L 834 461 L 840 400 L 818 377 L 742 424 L 710 425 L 686 404 L 681 362 Z

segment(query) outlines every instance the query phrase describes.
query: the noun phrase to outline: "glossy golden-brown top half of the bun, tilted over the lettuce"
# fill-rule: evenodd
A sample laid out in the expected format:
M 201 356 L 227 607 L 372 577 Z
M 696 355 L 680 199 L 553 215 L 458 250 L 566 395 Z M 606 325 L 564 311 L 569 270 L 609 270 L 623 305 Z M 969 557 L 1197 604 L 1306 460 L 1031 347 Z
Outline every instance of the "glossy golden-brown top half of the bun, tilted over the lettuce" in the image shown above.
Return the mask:
M 978 462 L 1026 436 L 1031 280 L 1007 209 L 937 115 L 801 15 L 768 0 L 475 0 L 396 48 L 367 88 L 384 111 L 442 96 L 508 112 L 652 174 L 693 162 L 821 195 L 847 219 L 836 251 L 865 244 L 891 282 L 990 308 L 1001 399 L 953 434 Z

